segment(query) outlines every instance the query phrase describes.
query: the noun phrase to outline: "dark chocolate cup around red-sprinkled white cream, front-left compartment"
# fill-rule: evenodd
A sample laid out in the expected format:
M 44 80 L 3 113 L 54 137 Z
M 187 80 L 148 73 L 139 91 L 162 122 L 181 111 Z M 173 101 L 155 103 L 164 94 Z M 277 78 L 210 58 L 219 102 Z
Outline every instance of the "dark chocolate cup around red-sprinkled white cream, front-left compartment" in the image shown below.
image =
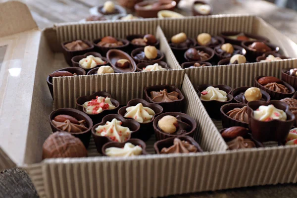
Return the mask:
M 110 98 L 110 101 L 115 106 L 115 108 L 114 109 L 103 109 L 102 112 L 101 113 L 98 113 L 98 114 L 88 114 L 88 113 L 86 113 L 85 112 L 85 109 L 83 107 L 83 104 L 86 101 L 90 101 L 92 99 L 96 99 L 96 96 Z M 96 93 L 94 93 L 94 94 L 92 94 L 90 96 L 81 96 L 81 97 L 77 98 L 76 99 L 76 105 L 77 105 L 78 110 L 85 112 L 93 120 L 93 123 L 94 124 L 97 124 L 97 123 L 101 122 L 101 119 L 105 115 L 116 113 L 117 110 L 119 109 L 120 103 L 117 100 L 112 99 L 111 98 L 111 95 L 109 93 L 107 93 L 107 92 L 96 92 Z

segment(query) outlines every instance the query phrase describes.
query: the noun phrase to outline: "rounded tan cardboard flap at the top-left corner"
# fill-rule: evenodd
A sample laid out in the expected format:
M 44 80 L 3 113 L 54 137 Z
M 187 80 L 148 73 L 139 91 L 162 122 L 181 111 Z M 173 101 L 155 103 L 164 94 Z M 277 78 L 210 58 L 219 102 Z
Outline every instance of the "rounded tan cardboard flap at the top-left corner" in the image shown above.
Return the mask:
M 26 4 L 7 1 L 0 6 L 0 37 L 38 28 Z

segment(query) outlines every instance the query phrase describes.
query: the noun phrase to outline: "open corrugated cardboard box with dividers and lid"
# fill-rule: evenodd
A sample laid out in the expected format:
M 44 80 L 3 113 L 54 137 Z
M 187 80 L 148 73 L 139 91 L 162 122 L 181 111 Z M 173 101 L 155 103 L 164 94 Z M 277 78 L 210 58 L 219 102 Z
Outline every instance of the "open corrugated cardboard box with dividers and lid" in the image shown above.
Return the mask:
M 294 174 L 297 162 L 293 157 L 297 154 L 296 146 L 226 150 L 227 145 L 194 88 L 202 83 L 233 88 L 252 85 L 257 75 L 280 77 L 282 68 L 297 67 L 297 59 L 183 70 L 165 38 L 181 31 L 191 37 L 200 32 L 217 34 L 228 30 L 258 33 L 278 44 L 285 55 L 297 57 L 296 44 L 263 20 L 247 15 L 215 15 L 67 23 L 41 31 L 26 5 L 17 1 L 1 4 L 0 19 L 3 18 L 6 20 L 1 21 L 4 28 L 0 29 L 0 46 L 4 46 L 0 47 L 4 51 L 0 62 L 0 169 L 24 167 L 40 197 L 158 197 L 297 182 Z M 173 70 L 54 78 L 52 103 L 46 77 L 67 66 L 61 42 L 102 36 L 124 38 L 135 33 L 155 34 Z M 91 140 L 90 157 L 41 161 L 42 145 L 51 133 L 48 115 L 53 108 L 75 107 L 76 97 L 95 91 L 110 92 L 125 104 L 130 99 L 143 98 L 144 87 L 161 84 L 173 84 L 182 91 L 186 98 L 184 112 L 197 121 L 194 138 L 205 152 L 101 157 Z M 153 142 L 152 138 L 147 143 L 150 153 Z

